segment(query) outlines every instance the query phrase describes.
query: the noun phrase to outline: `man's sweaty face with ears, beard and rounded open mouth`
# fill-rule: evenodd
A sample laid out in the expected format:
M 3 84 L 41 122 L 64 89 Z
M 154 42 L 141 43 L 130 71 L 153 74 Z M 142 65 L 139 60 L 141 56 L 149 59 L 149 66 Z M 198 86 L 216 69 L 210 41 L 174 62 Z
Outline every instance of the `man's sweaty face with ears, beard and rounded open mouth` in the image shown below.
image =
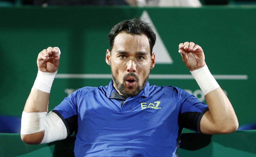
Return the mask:
M 115 89 L 119 94 L 130 97 L 143 90 L 150 69 L 155 65 L 155 54 L 150 55 L 146 35 L 121 32 L 115 37 L 111 54 L 107 50 L 106 62 L 111 67 Z

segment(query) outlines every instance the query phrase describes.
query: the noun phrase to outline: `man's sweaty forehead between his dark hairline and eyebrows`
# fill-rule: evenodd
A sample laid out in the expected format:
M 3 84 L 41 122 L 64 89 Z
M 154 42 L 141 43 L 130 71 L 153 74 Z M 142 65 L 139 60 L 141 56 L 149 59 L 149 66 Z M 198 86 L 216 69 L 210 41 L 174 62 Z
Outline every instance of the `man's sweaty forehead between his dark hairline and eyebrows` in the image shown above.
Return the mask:
M 145 34 L 132 35 L 126 32 L 120 32 L 114 40 L 113 49 L 127 51 L 127 49 L 134 51 L 150 52 L 149 40 Z

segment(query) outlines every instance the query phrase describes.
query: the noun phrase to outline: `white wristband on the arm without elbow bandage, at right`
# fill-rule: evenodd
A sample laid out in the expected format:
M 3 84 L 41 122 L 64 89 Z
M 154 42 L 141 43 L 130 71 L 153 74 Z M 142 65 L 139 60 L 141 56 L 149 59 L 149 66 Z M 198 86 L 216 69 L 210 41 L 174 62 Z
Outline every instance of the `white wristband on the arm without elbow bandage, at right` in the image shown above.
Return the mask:
M 209 71 L 207 65 L 201 67 L 200 69 L 190 71 L 197 84 L 201 88 L 204 95 L 209 93 L 210 91 L 219 88 L 219 84 L 214 79 L 213 75 Z

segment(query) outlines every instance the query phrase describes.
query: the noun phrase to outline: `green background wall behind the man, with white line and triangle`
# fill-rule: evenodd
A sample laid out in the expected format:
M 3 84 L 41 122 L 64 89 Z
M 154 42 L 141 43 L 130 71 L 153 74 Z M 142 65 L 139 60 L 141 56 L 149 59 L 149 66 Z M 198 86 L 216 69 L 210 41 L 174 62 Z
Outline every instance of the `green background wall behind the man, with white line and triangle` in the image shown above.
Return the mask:
M 141 16 L 144 10 L 173 59 L 173 64 L 157 63 L 151 74 L 189 75 L 178 53 L 178 45 L 193 41 L 203 48 L 212 74 L 246 77 L 217 81 L 233 104 L 239 124 L 256 122 L 255 7 L 0 8 L 0 115 L 21 116 L 36 78 L 37 55 L 48 46 L 61 49 L 58 74 L 110 74 L 110 67 L 105 63 L 110 29 L 122 20 Z M 157 57 L 158 52 L 155 53 Z M 49 110 L 67 96 L 68 90 L 106 86 L 110 80 L 56 78 Z M 177 86 L 192 94 L 200 89 L 193 79 L 149 78 L 149 81 L 159 86 Z

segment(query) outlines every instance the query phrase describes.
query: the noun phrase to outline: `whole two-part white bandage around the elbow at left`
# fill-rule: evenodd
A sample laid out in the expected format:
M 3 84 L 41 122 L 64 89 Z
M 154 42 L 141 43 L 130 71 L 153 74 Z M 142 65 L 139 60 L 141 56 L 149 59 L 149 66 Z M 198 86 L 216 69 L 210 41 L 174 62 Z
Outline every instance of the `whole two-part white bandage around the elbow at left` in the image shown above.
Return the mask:
M 54 112 L 22 112 L 21 134 L 33 134 L 45 130 L 43 143 L 67 138 L 67 129 L 61 118 Z

